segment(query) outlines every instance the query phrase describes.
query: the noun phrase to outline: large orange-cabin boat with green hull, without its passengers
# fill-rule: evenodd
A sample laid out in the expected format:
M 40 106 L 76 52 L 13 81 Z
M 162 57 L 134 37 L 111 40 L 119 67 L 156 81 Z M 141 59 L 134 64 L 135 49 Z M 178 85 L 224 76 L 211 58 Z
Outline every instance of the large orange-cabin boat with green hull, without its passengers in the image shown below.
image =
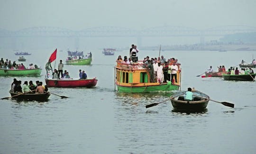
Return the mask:
M 149 82 L 150 75 L 143 62 L 138 61 L 132 65 L 119 63 L 115 66 L 116 85 L 118 92 L 151 92 L 151 91 L 173 91 L 180 87 L 180 69 L 177 71 L 177 82 Z

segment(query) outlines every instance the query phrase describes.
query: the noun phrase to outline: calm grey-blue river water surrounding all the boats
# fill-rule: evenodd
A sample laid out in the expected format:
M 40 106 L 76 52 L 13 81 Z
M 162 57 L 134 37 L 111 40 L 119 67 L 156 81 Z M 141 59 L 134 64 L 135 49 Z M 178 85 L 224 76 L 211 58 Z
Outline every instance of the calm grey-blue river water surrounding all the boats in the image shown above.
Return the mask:
M 55 49 L 29 51 L 27 62 L 44 68 Z M 140 51 L 139 59 L 158 56 L 159 51 Z M 0 51 L 1 57 L 18 61 L 13 51 Z M 85 52 L 84 52 L 85 53 Z M 227 154 L 256 153 L 256 82 L 223 81 L 201 78 L 212 65 L 226 68 L 243 59 L 252 61 L 252 51 L 163 51 L 165 57 L 182 63 L 182 85 L 185 91 L 194 87 L 212 100 L 235 104 L 229 108 L 210 101 L 203 113 L 174 112 L 170 101 L 155 107 L 145 105 L 167 100 L 171 92 L 125 94 L 114 91 L 114 65 L 118 55 L 105 56 L 91 50 L 92 65 L 64 65 L 73 78 L 78 70 L 97 77 L 96 88 L 49 88 L 47 102 L 0 100 L 0 154 Z M 57 52 L 57 62 L 67 52 Z M 54 67 L 54 62 L 52 66 Z M 256 72 L 256 69 L 254 69 Z M 24 81 L 44 81 L 41 77 L 18 77 Z M 9 97 L 13 77 L 0 77 L 0 96 Z

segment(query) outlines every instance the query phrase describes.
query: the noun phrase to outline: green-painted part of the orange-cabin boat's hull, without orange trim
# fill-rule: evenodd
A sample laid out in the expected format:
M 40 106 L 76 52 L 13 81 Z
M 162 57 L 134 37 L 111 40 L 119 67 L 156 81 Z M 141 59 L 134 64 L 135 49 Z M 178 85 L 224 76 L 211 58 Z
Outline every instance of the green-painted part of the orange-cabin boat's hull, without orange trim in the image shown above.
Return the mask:
M 153 91 L 178 91 L 179 86 L 171 83 L 161 84 L 157 86 L 142 86 L 142 87 L 124 87 L 117 85 L 118 92 L 138 93 L 138 92 L 153 92 Z

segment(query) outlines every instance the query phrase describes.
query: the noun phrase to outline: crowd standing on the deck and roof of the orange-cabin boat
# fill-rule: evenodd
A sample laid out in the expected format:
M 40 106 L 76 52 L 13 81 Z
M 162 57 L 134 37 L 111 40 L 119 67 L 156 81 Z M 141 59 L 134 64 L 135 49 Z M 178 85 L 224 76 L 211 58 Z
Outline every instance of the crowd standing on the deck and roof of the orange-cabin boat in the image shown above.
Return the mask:
M 128 68 L 138 63 L 138 52 L 136 45 L 131 45 L 130 48 L 130 57 L 124 56 L 122 59 L 121 55 L 118 56 L 116 62 L 127 64 Z M 166 59 L 162 55 L 160 57 L 149 58 L 146 56 L 143 60 L 142 68 L 146 68 L 149 71 L 150 82 L 178 82 L 177 80 L 177 71 L 180 70 L 180 63 L 178 59 L 170 58 Z

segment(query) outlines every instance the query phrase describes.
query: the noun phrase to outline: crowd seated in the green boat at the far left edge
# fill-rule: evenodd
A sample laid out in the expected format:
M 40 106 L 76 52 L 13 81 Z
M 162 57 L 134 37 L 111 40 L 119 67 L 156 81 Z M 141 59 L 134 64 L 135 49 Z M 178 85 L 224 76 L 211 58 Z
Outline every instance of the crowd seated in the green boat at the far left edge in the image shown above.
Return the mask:
M 15 61 L 13 61 L 11 63 L 11 61 L 8 59 L 6 59 L 6 61 L 3 60 L 3 58 L 1 58 L 0 60 L 0 68 L 1 69 L 17 69 L 17 70 L 25 70 L 25 69 L 35 69 L 38 68 L 37 65 L 33 65 L 33 63 L 29 64 L 29 67 L 26 67 L 25 65 L 23 65 L 23 63 L 16 63 Z

